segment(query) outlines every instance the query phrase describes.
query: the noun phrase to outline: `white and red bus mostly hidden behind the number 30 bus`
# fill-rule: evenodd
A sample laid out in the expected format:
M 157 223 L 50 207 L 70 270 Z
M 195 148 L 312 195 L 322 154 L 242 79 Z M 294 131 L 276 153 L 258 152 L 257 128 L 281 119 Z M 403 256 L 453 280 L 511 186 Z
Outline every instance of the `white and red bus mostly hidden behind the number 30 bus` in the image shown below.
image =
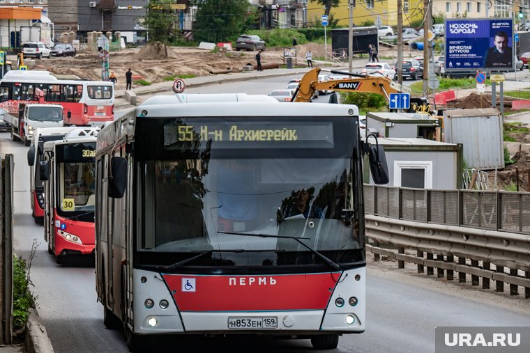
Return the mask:
M 73 130 L 78 130 L 81 136 L 90 136 L 97 130 L 87 128 L 79 130 L 79 127 L 42 127 L 33 134 L 31 145 L 27 153 L 29 165 L 29 196 L 31 215 L 35 223 L 43 225 L 44 218 L 44 181 L 40 180 L 40 162 L 44 160 L 44 143 L 47 141 L 61 140 Z

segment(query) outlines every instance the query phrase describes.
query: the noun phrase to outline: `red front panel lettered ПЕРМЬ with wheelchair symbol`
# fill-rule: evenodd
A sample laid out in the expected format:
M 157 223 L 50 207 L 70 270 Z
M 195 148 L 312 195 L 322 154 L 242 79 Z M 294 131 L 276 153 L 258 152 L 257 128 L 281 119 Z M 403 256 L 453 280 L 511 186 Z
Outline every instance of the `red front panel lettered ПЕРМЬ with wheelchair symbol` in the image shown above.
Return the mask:
M 181 311 L 283 311 L 325 309 L 340 274 L 163 277 Z

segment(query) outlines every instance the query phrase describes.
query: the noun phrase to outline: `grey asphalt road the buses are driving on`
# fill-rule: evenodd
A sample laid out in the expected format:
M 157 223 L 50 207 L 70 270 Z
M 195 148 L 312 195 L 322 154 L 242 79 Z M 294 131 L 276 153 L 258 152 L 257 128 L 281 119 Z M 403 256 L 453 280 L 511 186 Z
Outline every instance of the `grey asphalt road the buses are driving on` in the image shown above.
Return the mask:
M 192 88 L 187 93 L 268 93 L 287 85 L 290 77 Z M 319 100 L 326 102 L 328 96 Z M 288 103 L 286 103 L 288 104 Z M 94 269 L 90 263 L 56 265 L 48 255 L 43 228 L 33 223 L 29 205 L 27 147 L 0 133 L 0 154 L 15 155 L 15 251 L 29 257 L 38 313 L 56 352 L 127 352 L 123 334 L 103 326 L 103 306 L 96 301 Z M 327 352 L 434 352 L 437 326 L 530 326 L 527 301 L 506 295 L 455 288 L 435 279 L 416 278 L 397 270 L 369 265 L 367 331 L 343 336 L 336 350 Z M 471 295 L 470 295 L 471 293 Z M 517 305 L 515 305 L 517 304 Z M 151 350 L 195 352 L 318 352 L 309 340 L 267 338 L 157 338 Z

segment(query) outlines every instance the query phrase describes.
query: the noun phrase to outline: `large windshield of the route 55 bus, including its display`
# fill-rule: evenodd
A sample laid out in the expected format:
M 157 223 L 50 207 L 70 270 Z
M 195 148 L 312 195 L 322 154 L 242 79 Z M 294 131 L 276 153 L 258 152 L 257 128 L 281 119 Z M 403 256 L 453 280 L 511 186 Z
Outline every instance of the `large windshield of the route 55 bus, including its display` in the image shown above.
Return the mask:
M 162 158 L 137 162 L 144 185 L 137 250 L 185 258 L 241 249 L 217 256 L 241 266 L 321 264 L 289 238 L 298 237 L 335 262 L 363 260 L 353 119 L 285 119 L 166 122 L 161 139 L 149 138 Z M 147 141 L 138 147 L 138 159 L 153 151 Z

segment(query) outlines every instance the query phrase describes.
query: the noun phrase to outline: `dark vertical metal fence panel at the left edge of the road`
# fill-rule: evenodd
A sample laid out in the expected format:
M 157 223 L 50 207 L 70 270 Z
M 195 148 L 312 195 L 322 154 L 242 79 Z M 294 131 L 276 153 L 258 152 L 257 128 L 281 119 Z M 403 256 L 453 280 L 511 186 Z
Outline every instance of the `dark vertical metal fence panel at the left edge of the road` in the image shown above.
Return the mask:
M 13 155 L 0 156 L 0 344 L 13 336 Z

